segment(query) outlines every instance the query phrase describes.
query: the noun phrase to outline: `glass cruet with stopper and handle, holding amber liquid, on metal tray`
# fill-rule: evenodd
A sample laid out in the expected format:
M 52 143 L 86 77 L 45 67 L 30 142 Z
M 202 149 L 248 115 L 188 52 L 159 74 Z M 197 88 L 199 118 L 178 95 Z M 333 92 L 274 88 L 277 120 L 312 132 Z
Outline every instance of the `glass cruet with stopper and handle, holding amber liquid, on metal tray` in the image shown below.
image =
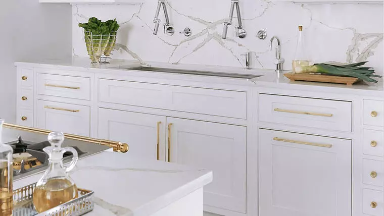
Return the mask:
M 43 148 L 43 151 L 49 155 L 49 167 L 33 192 L 33 204 L 39 213 L 78 197 L 76 184 L 67 174 L 77 163 L 77 151 L 72 147 L 61 147 L 64 141 L 62 132 L 50 133 L 48 141 L 51 146 Z M 63 165 L 65 152 L 73 154 L 68 167 Z

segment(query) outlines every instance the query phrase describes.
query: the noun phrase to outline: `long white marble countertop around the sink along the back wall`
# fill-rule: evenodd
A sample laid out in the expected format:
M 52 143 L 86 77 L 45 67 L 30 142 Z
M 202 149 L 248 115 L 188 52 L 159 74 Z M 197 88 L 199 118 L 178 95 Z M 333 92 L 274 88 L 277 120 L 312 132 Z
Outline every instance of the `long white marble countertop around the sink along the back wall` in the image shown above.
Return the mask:
M 187 74 L 174 74 L 164 72 L 144 72 L 144 71 L 130 71 L 124 70 L 127 68 L 133 68 L 140 66 L 138 61 L 132 60 L 111 60 L 111 64 L 108 65 L 92 65 L 89 63 L 88 58 L 70 58 L 62 60 L 43 60 L 43 61 L 30 61 L 30 62 L 16 62 L 16 66 L 25 67 L 42 67 L 50 69 L 63 69 L 69 70 L 76 68 L 76 71 L 95 72 L 95 73 L 108 73 L 118 75 L 129 76 L 141 76 L 151 77 L 159 79 L 178 79 L 197 82 L 208 83 L 223 83 L 231 85 L 249 85 L 259 86 L 266 88 L 279 88 L 279 89 L 291 89 L 291 90 L 304 90 L 304 91 L 316 91 L 316 92 L 330 92 L 330 93 L 345 93 L 345 94 L 361 94 L 369 96 L 383 96 L 383 79 L 379 78 L 378 83 L 365 83 L 359 82 L 354 85 L 344 84 L 331 84 L 331 83 L 318 83 L 318 82 L 304 82 L 304 81 L 291 81 L 283 76 L 283 73 L 290 72 L 284 71 L 282 73 L 276 73 L 274 70 L 267 69 L 241 69 L 234 67 L 222 67 L 222 66 L 206 66 L 206 65 L 174 65 L 167 63 L 149 62 L 145 66 L 152 67 L 165 67 L 174 69 L 185 70 L 202 70 L 202 71 L 219 71 L 223 73 L 238 73 L 238 74 L 252 74 L 259 75 L 260 77 L 253 79 L 238 79 L 227 77 L 210 77 L 201 75 L 187 75 Z M 377 78 L 376 78 L 377 79 Z

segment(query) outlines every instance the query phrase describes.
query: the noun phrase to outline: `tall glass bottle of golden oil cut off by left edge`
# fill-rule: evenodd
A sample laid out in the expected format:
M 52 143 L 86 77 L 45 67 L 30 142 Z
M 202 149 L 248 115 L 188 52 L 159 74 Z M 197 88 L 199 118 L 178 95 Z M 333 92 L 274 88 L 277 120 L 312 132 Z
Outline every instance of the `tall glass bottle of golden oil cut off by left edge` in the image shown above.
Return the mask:
M 0 119 L 0 215 L 10 216 L 13 210 L 12 147 L 3 143 L 3 123 Z

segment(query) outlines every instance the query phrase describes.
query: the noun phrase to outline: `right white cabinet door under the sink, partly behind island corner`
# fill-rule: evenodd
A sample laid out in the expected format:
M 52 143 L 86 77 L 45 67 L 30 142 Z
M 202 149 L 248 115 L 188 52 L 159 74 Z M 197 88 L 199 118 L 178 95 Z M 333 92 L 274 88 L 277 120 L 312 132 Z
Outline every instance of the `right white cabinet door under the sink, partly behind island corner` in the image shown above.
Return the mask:
M 246 127 L 167 117 L 169 160 L 213 171 L 204 204 L 245 213 Z

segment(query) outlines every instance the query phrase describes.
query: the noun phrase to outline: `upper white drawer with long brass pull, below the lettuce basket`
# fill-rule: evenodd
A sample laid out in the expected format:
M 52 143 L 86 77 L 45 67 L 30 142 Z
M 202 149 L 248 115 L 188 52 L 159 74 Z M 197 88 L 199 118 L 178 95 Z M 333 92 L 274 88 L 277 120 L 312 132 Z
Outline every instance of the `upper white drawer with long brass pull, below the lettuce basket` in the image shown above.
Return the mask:
M 89 100 L 90 78 L 38 73 L 37 94 Z

